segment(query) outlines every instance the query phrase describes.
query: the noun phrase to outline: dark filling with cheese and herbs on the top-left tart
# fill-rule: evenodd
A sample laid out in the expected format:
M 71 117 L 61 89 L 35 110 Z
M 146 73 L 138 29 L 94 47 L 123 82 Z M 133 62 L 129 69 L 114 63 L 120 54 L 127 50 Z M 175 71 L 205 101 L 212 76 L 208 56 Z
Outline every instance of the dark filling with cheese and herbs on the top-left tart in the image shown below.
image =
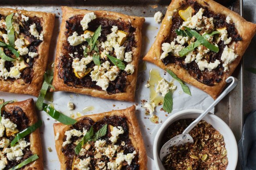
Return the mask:
M 0 14 L 0 79 L 31 83 L 38 46 L 43 41 L 42 18 Z

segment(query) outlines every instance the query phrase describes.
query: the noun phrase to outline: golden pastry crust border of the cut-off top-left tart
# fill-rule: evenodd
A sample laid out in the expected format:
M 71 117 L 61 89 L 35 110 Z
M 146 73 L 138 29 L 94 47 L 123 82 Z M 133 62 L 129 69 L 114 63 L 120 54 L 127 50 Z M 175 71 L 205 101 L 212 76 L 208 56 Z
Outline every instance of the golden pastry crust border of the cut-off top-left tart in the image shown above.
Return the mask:
M 0 91 L 29 94 L 38 97 L 43 84 L 43 75 L 47 65 L 50 41 L 53 33 L 55 14 L 46 12 L 35 12 L 27 10 L 14 10 L 11 8 L 0 8 L 0 14 L 9 15 L 11 13 L 24 14 L 28 17 L 42 17 L 43 42 L 38 47 L 38 57 L 33 63 L 33 78 L 31 83 L 25 83 L 22 78 L 11 81 L 0 79 Z

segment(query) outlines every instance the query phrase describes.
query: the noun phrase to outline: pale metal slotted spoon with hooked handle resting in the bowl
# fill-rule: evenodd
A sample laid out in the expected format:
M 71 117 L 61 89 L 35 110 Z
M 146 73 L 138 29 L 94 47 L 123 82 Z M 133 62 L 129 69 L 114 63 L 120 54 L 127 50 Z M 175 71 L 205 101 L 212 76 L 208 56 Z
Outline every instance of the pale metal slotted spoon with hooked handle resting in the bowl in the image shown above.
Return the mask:
M 231 90 L 233 90 L 237 85 L 237 79 L 233 76 L 229 76 L 226 79 L 227 83 L 232 82 L 223 92 L 220 94 L 220 96 L 213 102 L 213 104 L 210 105 L 209 108 L 206 109 L 196 120 L 194 120 L 185 130 L 182 132 L 182 134 L 174 136 L 172 139 L 170 139 L 168 142 L 164 144 L 160 151 L 160 159 L 163 160 L 165 156 L 167 156 L 170 153 L 169 148 L 171 146 L 178 146 L 178 145 L 184 145 L 185 143 L 194 143 L 194 140 L 191 135 L 188 134 L 194 128 L 199 121 L 203 119 L 203 117 L 206 116 L 213 108 L 214 106 L 221 101 Z

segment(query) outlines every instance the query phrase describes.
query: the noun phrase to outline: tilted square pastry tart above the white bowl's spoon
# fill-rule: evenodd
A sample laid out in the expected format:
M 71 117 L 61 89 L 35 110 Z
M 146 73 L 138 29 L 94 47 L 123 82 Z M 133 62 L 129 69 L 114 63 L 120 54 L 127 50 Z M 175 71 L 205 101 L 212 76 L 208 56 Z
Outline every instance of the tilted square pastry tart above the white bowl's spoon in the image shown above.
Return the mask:
M 215 99 L 255 32 L 256 24 L 213 0 L 172 0 L 143 60 L 172 70 Z

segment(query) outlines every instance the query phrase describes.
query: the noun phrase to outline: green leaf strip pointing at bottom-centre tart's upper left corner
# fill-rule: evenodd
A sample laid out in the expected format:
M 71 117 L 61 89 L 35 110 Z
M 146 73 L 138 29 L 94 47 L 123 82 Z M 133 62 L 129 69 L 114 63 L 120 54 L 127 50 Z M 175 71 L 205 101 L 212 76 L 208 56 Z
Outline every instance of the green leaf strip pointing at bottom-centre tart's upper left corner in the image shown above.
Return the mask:
M 72 118 L 66 116 L 65 114 L 62 114 L 59 111 L 55 110 L 54 108 L 51 107 L 50 104 L 48 105 L 48 104 L 43 103 L 43 111 L 45 111 L 52 118 L 54 118 L 57 121 L 60 121 L 64 125 L 73 125 L 77 122 L 75 119 L 72 119 Z

